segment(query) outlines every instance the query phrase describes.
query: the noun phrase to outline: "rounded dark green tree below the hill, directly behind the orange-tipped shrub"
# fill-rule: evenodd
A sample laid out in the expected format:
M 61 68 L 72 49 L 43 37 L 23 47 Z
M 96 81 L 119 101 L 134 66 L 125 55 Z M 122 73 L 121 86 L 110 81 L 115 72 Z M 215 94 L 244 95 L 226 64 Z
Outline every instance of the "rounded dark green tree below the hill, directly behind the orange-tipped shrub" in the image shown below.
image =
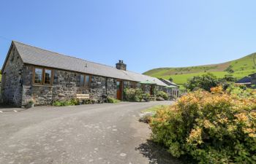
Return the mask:
M 218 83 L 219 82 L 217 77 L 214 76 L 214 74 L 208 73 L 189 79 L 189 81 L 184 84 L 184 87 L 190 91 L 196 90 L 198 88 L 210 91 L 211 87 L 216 87 Z

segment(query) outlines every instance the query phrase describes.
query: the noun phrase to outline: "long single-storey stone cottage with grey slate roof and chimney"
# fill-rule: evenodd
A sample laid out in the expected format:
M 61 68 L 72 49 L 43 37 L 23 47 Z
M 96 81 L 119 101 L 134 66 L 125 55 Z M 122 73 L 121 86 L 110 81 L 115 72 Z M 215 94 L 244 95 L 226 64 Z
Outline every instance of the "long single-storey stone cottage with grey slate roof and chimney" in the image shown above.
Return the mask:
M 106 66 L 38 47 L 12 41 L 1 69 L 1 95 L 7 104 L 25 106 L 31 98 L 36 105 L 89 94 L 98 102 L 103 96 L 122 99 L 126 87 L 164 90 L 168 85 L 155 78 L 127 71 L 122 60 L 116 67 Z M 143 81 L 153 85 L 140 85 Z

